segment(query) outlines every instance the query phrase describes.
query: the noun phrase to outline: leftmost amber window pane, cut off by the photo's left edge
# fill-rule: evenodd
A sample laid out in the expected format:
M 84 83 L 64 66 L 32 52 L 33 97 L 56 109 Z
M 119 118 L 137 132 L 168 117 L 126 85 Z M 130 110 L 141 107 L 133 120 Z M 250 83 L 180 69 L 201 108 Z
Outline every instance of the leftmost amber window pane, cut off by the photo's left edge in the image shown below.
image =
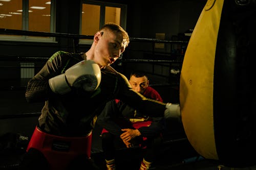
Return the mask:
M 0 28 L 22 30 L 22 1 L 0 1 Z

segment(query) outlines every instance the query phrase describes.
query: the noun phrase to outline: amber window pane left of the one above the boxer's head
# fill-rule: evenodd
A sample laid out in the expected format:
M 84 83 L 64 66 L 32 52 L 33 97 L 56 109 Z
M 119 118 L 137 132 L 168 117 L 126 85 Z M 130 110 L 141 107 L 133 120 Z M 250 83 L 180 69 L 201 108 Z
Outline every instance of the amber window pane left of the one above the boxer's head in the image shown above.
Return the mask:
M 94 35 L 99 30 L 100 6 L 82 4 L 82 35 Z

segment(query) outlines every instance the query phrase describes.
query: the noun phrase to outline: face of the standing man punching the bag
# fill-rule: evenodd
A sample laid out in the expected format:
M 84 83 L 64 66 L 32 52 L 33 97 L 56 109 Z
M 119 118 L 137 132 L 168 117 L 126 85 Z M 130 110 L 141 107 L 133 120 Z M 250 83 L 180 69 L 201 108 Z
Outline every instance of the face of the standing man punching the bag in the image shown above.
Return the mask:
M 124 51 L 122 36 L 109 31 L 99 34 L 95 48 L 96 60 L 101 66 L 108 66 L 114 63 Z

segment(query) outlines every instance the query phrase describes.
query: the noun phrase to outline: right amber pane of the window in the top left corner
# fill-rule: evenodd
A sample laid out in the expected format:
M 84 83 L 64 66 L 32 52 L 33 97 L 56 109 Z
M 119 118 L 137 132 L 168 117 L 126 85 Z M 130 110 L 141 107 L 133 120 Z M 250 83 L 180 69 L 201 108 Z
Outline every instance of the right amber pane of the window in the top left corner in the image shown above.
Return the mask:
M 29 0 L 29 31 L 50 32 L 50 0 Z

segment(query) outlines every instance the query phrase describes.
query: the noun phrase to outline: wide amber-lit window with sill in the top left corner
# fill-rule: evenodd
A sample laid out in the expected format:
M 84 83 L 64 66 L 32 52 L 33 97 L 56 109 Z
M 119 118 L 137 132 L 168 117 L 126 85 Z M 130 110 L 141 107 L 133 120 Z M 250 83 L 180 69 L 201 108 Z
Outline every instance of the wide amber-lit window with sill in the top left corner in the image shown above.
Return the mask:
M 51 0 L 0 0 L 0 28 L 55 32 L 54 10 Z M 52 42 L 54 38 L 1 35 L 1 40 Z

